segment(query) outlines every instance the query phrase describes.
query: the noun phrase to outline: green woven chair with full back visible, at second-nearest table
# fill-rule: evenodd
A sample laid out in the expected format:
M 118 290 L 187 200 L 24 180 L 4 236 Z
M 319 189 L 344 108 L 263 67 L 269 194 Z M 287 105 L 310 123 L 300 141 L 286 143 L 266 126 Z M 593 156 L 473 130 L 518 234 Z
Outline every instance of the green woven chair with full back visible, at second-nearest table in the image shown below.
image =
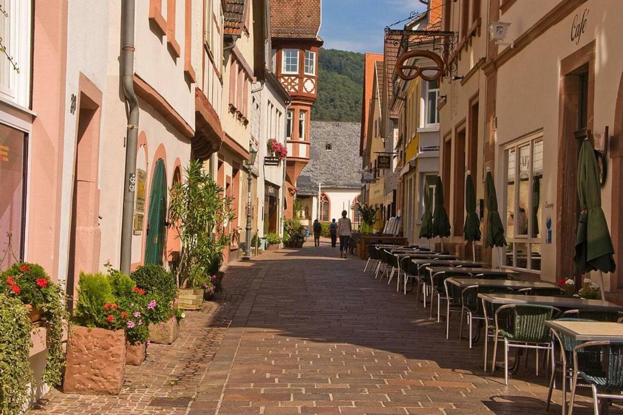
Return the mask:
M 504 340 L 504 381 L 508 385 L 508 350 L 511 347 L 536 350 L 536 376 L 539 375 L 538 350 L 553 350 L 551 332 L 545 321 L 552 320 L 560 310 L 548 305 L 505 304 L 495 311 L 492 373 L 498 351 L 498 340 Z M 508 324 L 510 322 L 510 324 Z M 553 359 L 552 359 L 553 364 Z

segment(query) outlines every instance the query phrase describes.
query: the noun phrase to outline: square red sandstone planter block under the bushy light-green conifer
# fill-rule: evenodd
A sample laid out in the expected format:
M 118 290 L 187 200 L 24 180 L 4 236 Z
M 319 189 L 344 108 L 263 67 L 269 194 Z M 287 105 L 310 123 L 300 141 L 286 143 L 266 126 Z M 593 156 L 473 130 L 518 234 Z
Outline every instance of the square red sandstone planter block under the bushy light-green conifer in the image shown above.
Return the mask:
M 125 359 L 125 331 L 73 326 L 67 339 L 63 392 L 119 394 Z

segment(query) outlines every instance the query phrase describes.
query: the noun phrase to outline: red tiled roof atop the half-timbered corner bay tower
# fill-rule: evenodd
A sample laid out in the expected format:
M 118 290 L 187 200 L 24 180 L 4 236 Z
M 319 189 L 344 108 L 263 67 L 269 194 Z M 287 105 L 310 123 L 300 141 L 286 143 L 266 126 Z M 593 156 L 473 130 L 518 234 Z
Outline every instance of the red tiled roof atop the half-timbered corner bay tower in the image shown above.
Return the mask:
M 316 39 L 321 22 L 321 0 L 270 0 L 270 35 Z

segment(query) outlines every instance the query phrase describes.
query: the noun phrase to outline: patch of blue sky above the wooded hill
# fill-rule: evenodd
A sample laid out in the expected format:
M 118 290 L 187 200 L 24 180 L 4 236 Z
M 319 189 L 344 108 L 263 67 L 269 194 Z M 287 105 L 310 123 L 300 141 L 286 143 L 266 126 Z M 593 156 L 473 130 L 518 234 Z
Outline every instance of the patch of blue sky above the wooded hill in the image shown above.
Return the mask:
M 381 53 L 385 26 L 423 9 L 419 0 L 322 0 L 320 36 L 327 49 Z

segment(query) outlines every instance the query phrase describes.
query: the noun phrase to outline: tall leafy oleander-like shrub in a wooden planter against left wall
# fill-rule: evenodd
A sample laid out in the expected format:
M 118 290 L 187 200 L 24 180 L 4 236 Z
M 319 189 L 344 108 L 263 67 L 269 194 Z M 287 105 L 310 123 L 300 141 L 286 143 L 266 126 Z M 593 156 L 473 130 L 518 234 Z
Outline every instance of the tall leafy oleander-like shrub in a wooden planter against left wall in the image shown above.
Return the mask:
M 206 264 L 229 246 L 233 234 L 227 231 L 235 218 L 232 198 L 204 171 L 201 161 L 191 161 L 183 182 L 171 188 L 169 223 L 181 240 L 181 254 L 174 269 L 178 307 L 200 309 L 203 302 Z

